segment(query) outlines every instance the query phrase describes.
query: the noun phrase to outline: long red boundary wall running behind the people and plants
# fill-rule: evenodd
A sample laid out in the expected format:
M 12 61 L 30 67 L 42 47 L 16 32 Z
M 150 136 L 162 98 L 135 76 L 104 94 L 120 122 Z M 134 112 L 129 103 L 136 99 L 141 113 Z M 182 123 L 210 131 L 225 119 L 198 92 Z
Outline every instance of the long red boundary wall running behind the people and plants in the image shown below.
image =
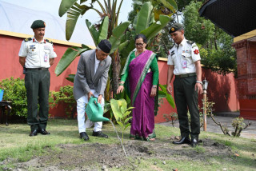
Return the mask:
M 0 34 L 0 80 L 5 78 L 24 78 L 22 74 L 22 66 L 18 62 L 18 51 L 20 49 L 23 38 L 16 38 Z M 58 91 L 63 85 L 73 85 L 65 78 L 69 74 L 75 74 L 78 65 L 78 58 L 71 63 L 71 65 L 58 77 L 54 74 L 54 69 L 58 61 L 65 53 L 69 46 L 54 43 L 56 54 L 54 66 L 50 67 L 50 90 Z M 166 85 L 167 69 L 166 62 L 159 61 L 159 80 L 160 84 Z M 238 103 L 238 89 L 236 80 L 233 74 L 226 76 L 218 75 L 210 70 L 203 69 L 203 78 L 209 82 L 208 97 L 210 101 L 214 101 L 215 112 L 236 111 L 239 109 Z M 165 113 L 177 112 L 176 109 L 168 104 L 166 99 L 164 103 L 160 104 L 158 116 L 155 117 L 155 122 L 166 121 L 163 117 Z M 202 95 L 199 97 L 199 102 L 202 103 Z M 66 117 L 64 106 L 60 105 L 55 109 L 50 109 L 50 117 Z

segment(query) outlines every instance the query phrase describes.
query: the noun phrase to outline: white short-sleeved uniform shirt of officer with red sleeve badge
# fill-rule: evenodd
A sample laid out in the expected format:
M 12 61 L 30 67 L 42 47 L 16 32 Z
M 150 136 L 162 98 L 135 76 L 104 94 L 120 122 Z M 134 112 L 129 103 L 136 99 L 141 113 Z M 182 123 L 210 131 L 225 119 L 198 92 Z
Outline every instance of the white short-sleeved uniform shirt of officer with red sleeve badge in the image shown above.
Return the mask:
M 194 62 L 201 60 L 198 46 L 186 38 L 170 48 L 167 65 L 174 65 L 174 74 L 196 73 Z

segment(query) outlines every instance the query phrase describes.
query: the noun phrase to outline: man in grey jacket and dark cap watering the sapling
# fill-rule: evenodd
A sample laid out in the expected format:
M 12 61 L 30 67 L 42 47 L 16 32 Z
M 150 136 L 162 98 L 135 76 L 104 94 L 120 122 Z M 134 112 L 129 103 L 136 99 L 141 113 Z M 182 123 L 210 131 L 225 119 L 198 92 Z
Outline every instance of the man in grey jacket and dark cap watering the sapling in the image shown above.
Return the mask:
M 94 124 L 93 136 L 108 137 L 102 133 L 102 121 L 92 122 L 88 118 L 85 123 L 86 104 L 90 97 L 98 97 L 98 103 L 104 109 L 104 91 L 108 72 L 110 70 L 111 44 L 107 40 L 98 43 L 96 50 L 88 50 L 82 53 L 78 62 L 77 74 L 74 77 L 74 98 L 77 101 L 78 111 L 78 130 L 80 138 L 84 141 L 89 140 L 86 128 Z

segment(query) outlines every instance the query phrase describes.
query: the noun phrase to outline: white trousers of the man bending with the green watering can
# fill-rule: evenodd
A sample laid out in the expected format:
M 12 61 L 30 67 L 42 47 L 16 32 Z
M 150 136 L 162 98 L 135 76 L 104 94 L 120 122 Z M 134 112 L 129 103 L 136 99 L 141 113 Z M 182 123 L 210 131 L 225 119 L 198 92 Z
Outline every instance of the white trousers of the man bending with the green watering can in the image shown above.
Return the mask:
M 94 94 L 94 97 L 98 97 L 98 93 L 95 92 L 94 89 L 90 89 L 91 93 Z M 88 103 L 88 95 L 84 95 L 82 97 L 80 97 L 77 100 L 77 111 L 78 111 L 78 131 L 79 133 L 82 132 L 86 132 L 86 128 L 90 128 L 92 125 L 94 125 L 94 131 L 98 132 L 98 131 L 102 131 L 102 121 L 98 121 L 98 122 L 92 122 L 90 121 L 88 118 L 86 120 L 85 123 L 85 119 L 86 119 L 86 104 Z M 104 110 L 104 98 L 102 97 L 102 109 Z

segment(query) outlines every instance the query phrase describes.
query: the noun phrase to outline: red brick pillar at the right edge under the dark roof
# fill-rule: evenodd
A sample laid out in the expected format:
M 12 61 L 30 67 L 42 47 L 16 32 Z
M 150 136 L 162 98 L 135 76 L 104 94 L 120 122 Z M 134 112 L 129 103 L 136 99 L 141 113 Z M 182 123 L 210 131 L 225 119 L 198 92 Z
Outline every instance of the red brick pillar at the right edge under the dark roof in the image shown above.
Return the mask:
M 240 116 L 256 120 L 256 42 L 242 40 L 237 51 Z

